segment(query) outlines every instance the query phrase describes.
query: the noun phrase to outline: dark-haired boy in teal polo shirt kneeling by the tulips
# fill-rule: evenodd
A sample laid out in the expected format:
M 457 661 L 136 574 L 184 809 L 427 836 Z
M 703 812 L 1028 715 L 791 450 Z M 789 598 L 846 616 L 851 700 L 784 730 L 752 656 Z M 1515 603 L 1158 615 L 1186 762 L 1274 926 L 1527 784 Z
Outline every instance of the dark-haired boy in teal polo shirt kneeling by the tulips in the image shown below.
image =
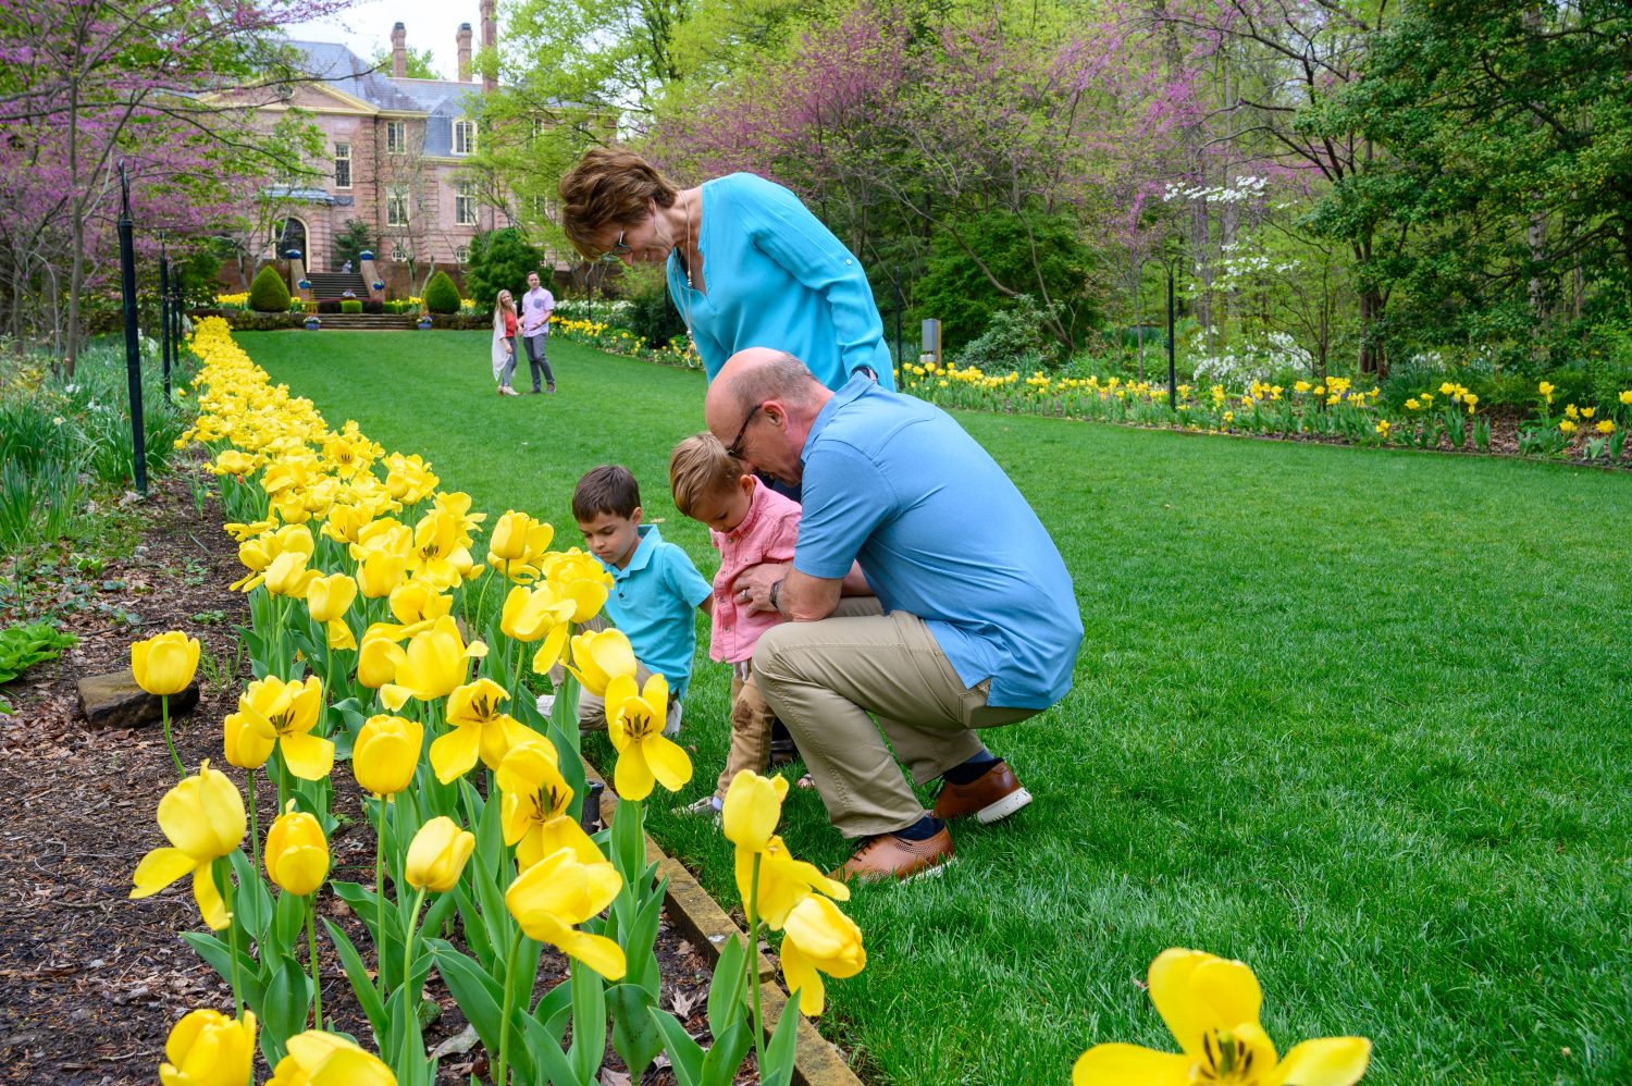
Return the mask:
M 627 467 L 597 467 L 573 490 L 573 518 L 584 545 L 612 575 L 602 614 L 628 637 L 641 688 L 653 673 L 667 679 L 669 719 L 663 733 L 676 735 L 697 655 L 692 612 L 702 608 L 713 616 L 713 585 L 684 550 L 664 542 L 658 527 L 641 524 L 640 516 L 640 483 Z M 588 691 L 578 697 L 578 727 L 607 727 L 605 702 Z

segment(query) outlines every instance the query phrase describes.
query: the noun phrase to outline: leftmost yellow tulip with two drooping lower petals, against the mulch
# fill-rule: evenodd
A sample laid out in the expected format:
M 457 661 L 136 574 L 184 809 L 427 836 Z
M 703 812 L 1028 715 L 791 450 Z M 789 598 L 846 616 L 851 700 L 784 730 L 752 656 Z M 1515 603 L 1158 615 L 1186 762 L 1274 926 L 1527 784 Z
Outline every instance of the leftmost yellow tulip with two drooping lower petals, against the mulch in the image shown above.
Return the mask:
M 237 786 L 227 774 L 211 769 L 206 759 L 197 776 L 186 777 L 158 800 L 158 828 L 170 839 L 170 848 L 157 848 L 142 857 L 131 877 L 131 897 L 152 897 L 191 874 L 199 915 L 212 929 L 224 929 L 232 915 L 211 866 L 238 848 L 246 826 L 248 815 Z

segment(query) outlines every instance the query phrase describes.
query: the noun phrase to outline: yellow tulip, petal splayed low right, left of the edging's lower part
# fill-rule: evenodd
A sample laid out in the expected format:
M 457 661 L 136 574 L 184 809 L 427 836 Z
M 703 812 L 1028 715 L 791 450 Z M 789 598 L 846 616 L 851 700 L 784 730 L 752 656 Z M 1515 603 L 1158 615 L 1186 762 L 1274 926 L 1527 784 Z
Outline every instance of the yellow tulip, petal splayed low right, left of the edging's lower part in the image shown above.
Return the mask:
M 504 892 L 504 905 L 527 937 L 548 942 L 607 980 L 623 980 L 623 947 L 573 926 L 612 905 L 622 887 L 612 864 L 584 864 L 571 849 L 560 849 L 521 872 Z

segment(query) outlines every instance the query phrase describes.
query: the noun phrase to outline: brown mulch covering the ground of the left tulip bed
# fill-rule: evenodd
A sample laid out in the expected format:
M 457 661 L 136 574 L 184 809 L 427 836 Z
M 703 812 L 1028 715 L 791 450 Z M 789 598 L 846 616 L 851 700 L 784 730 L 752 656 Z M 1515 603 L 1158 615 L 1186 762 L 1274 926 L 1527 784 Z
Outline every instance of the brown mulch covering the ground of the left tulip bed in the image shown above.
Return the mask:
M 129 668 L 131 642 L 180 629 L 202 642 L 197 709 L 173 722 L 183 763 L 209 758 L 225 768 L 222 719 L 250 681 L 237 627 L 246 621 L 243 596 L 228 591 L 242 573 L 237 544 L 220 531 L 220 513 L 202 514 L 183 480 L 157 480 L 134 506 L 140 544 L 127 560 L 109 560 L 93 575 L 64 562 L 36 578 L 29 611 L 51 609 L 80 643 L 38 665 L 3 689 L 13 715 L 0 715 L 0 1081 L 152 1083 L 170 1027 L 189 1009 L 232 1013 L 232 991 L 181 939 L 201 928 L 189 882 L 144 901 L 127 900 L 131 872 L 163 844 L 153 812 L 175 786 L 160 727 L 91 730 L 80 715 L 75 679 Z M 62 545 L 67 559 L 70 545 Z M 0 565 L 0 575 L 16 576 Z M 0 616 L 15 621 L 18 616 Z M 235 772 L 230 771 L 228 772 Z M 351 774 L 338 771 L 335 812 L 344 818 L 331 849 L 335 877 L 372 883 L 374 836 L 361 818 Z M 258 789 L 261 833 L 271 825 L 276 792 Z M 348 929 L 372 965 L 361 921 L 331 895 L 322 915 Z M 457 941 L 457 934 L 455 934 Z M 323 1013 L 372 1048 L 372 1035 L 325 936 L 318 936 Z M 707 1029 L 707 962 L 664 918 L 658 936 L 664 1008 L 676 1009 L 694 1035 Z M 566 975 L 547 952 L 539 968 L 542 995 Z M 432 975 L 426 995 L 441 1014 L 426 1027 L 434 1048 L 463 1026 L 447 990 Z M 659 1060 L 661 1063 L 661 1060 Z M 610 1055 L 607 1083 L 627 1083 Z M 264 1079 L 268 1068 L 258 1068 Z M 446 1057 L 439 1081 L 465 1083 L 488 1073 L 481 1047 Z M 654 1068 L 645 1083 L 672 1083 Z M 743 1078 L 741 1081 L 751 1081 Z

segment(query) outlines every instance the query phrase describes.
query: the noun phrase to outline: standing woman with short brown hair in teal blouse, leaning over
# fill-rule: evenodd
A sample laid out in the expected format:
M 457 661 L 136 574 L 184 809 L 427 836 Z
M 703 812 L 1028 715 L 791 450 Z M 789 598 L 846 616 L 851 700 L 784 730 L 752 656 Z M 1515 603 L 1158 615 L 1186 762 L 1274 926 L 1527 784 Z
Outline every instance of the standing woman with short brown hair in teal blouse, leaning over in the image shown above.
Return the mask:
M 736 351 L 788 351 L 837 390 L 858 371 L 894 389 L 885 325 L 855 258 L 788 189 L 731 173 L 681 189 L 640 155 L 591 150 L 561 178 L 561 225 L 584 256 L 667 261 L 669 297 L 712 381 Z

